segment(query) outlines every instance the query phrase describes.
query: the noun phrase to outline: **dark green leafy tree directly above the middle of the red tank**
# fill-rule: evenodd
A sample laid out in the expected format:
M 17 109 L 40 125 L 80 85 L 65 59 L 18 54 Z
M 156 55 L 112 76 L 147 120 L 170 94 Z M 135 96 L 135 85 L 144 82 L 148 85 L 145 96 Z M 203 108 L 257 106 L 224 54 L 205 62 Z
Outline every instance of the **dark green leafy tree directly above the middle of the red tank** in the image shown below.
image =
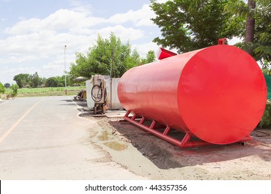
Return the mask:
M 217 44 L 221 37 L 237 35 L 239 30 L 230 26 L 233 14 L 224 10 L 227 3 L 227 0 L 172 0 L 165 3 L 151 0 L 151 9 L 156 14 L 151 20 L 161 28 L 163 36 L 156 37 L 154 42 L 182 53 Z

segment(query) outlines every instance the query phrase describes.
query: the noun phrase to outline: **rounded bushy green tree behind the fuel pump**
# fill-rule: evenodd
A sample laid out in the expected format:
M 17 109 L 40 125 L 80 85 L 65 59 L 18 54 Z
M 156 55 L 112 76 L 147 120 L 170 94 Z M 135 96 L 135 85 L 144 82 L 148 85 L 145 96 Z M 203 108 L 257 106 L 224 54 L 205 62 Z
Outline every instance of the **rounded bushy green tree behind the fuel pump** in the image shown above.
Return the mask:
M 109 39 L 98 35 L 95 46 L 90 47 L 86 55 L 76 53 L 76 64 L 71 64 L 69 76 L 91 78 L 94 74 L 101 74 L 117 78 L 139 63 L 140 56 L 136 50 L 131 51 L 129 42 L 122 44 L 114 33 Z

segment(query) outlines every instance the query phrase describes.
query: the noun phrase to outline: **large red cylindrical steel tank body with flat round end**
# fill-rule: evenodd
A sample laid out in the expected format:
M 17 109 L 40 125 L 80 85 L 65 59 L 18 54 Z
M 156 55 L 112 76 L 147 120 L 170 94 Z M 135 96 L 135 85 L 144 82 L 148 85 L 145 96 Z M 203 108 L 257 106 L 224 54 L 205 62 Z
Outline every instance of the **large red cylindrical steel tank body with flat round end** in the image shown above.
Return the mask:
M 216 45 L 129 69 L 117 94 L 130 112 L 208 143 L 227 144 L 254 130 L 267 91 L 249 54 Z

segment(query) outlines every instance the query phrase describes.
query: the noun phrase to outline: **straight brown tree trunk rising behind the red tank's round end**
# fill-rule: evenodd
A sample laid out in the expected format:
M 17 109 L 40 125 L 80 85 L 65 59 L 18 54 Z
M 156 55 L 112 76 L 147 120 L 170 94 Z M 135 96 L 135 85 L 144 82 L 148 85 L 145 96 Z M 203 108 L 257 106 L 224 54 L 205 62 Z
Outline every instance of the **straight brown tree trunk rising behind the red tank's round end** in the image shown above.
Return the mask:
M 248 0 L 247 6 L 249 8 L 249 13 L 247 15 L 247 25 L 245 28 L 245 43 L 252 43 L 254 42 L 255 19 L 250 11 L 256 8 L 256 3 L 254 0 Z M 252 55 L 253 54 L 252 48 L 249 48 L 247 53 L 249 53 L 249 55 Z

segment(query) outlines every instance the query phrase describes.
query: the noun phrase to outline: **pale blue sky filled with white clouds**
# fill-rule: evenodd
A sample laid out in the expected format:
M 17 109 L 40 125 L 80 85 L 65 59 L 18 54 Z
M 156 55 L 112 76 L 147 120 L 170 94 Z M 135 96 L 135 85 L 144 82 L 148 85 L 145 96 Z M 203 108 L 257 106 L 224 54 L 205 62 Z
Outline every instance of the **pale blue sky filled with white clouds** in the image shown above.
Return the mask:
M 158 0 L 165 2 L 166 0 Z M 0 0 L 0 82 L 19 73 L 64 75 L 75 53 L 87 53 L 97 35 L 113 32 L 140 56 L 157 51 L 161 35 L 149 0 Z M 65 45 L 67 47 L 65 47 Z

